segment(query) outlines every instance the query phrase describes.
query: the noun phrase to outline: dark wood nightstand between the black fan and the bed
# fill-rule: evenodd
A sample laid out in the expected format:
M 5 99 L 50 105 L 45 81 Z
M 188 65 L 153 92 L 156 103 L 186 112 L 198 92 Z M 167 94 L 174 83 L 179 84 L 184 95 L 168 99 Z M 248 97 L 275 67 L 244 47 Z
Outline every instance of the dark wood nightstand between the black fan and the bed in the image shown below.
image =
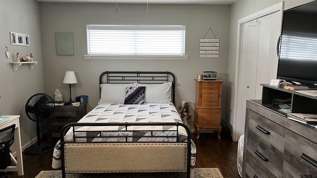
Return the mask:
M 86 113 L 86 103 L 55 106 L 53 116 L 47 122 L 48 139 L 60 137 L 60 131 L 66 124 L 79 121 Z

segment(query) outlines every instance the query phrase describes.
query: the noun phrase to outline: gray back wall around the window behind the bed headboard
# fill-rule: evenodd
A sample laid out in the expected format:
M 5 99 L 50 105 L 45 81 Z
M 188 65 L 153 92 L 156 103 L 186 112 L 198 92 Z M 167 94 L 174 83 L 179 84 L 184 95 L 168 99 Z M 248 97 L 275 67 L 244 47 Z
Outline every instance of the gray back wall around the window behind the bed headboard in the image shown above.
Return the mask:
M 58 9 L 58 10 L 56 10 Z M 72 88 L 72 98 L 85 92 L 89 95 L 88 111 L 99 101 L 99 75 L 103 71 L 170 71 L 176 76 L 176 106 L 181 100 L 190 102 L 194 118 L 195 81 L 203 71 L 217 71 L 218 79 L 227 81 L 229 5 L 175 5 L 106 3 L 40 3 L 41 30 L 44 58 L 45 91 L 59 89 L 64 100 L 69 98 L 69 88 L 62 84 L 66 70 L 75 71 L 78 84 Z M 186 55 L 188 60 L 88 60 L 86 25 L 185 25 Z M 200 39 L 212 28 L 220 39 L 219 58 L 199 58 Z M 74 55 L 56 55 L 55 33 L 72 32 Z M 209 32 L 206 38 L 214 38 Z M 226 110 L 226 83 L 223 106 Z M 225 113 L 225 112 L 224 112 Z M 226 115 L 223 114 L 225 119 Z

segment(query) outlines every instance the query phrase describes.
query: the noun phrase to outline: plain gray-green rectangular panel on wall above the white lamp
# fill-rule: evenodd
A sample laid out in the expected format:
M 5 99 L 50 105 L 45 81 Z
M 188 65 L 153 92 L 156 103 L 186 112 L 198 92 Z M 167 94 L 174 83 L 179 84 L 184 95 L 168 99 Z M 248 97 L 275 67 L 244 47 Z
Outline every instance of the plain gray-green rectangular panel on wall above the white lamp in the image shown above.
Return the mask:
M 74 55 L 73 33 L 55 33 L 56 55 Z

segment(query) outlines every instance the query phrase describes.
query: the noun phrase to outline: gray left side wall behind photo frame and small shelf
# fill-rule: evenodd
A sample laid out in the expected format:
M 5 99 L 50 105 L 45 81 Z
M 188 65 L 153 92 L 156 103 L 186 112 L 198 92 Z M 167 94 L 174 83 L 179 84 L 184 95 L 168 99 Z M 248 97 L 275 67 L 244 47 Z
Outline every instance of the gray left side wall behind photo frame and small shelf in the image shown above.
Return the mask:
M 36 138 L 36 124 L 25 115 L 25 103 L 33 94 L 44 92 L 39 3 L 35 0 L 1 0 L 0 24 L 0 113 L 21 115 L 22 145 L 28 146 Z M 10 45 L 9 32 L 30 35 L 30 46 Z M 8 46 L 9 58 L 5 57 L 5 46 Z M 20 57 L 33 53 L 38 64 L 31 71 L 28 64 L 23 64 L 13 72 L 9 62 L 15 61 L 17 52 Z

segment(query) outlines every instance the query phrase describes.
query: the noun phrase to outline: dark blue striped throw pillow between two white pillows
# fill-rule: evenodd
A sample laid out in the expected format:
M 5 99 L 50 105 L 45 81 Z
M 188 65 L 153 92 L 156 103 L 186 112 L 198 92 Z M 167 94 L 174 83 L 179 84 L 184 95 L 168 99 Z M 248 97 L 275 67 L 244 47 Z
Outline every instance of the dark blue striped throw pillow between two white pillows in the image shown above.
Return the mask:
M 145 96 L 145 87 L 127 87 L 125 88 L 124 104 L 143 104 Z

